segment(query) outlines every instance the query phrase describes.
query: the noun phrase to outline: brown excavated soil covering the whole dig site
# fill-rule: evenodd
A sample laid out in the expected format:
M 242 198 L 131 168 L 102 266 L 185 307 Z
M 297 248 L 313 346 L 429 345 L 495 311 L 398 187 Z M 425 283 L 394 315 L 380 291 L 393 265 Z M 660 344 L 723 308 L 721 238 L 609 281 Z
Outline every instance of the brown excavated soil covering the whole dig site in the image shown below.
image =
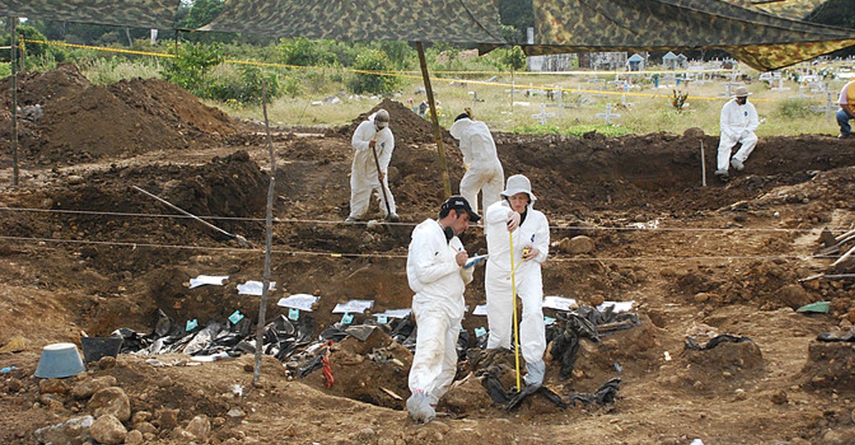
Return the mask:
M 20 122 L 21 184 L 0 190 L 0 346 L 23 340 L 14 348 L 22 350 L 0 354 L 0 367 L 16 367 L 0 374 L 0 440 L 29 444 L 38 428 L 91 413 L 67 391 L 43 394 L 32 373 L 44 345 L 80 344 L 80 331 L 147 333 L 158 309 L 181 324 L 224 321 L 235 310 L 257 319 L 258 297 L 239 296 L 236 286 L 262 278 L 270 161 L 262 128 L 162 81 L 101 87 L 62 66 L 22 73 L 19 85 L 21 106 L 38 103 L 44 116 Z M 0 88 L 8 110 L 9 79 Z M 398 142 L 389 176 L 403 221 L 340 224 L 349 206 L 351 132 L 381 107 Z M 310 315 L 319 330 L 338 321 L 332 308 L 350 299 L 373 299 L 374 312 L 410 306 L 406 247 L 412 226 L 434 217 L 444 197 L 439 154 L 427 120 L 398 102 L 374 109 L 340 129 L 274 129 L 277 287 L 268 321 L 286 313 L 275 303 L 290 293 L 321 297 Z M 0 114 L 2 184 L 12 179 L 9 118 Z M 636 303 L 641 325 L 600 343 L 582 340 L 571 378 L 558 377 L 557 361 L 547 364 L 546 384 L 560 395 L 621 378 L 613 404 L 562 409 L 534 395 L 508 413 L 463 363 L 439 419 L 416 425 L 400 400 L 409 396 L 411 354 L 380 331 L 366 343 L 348 338 L 333 347 L 328 389 L 321 372 L 292 378 L 272 357 L 253 385 L 251 355 L 200 366 L 169 355 L 157 359 L 173 366 L 155 367 L 148 357 L 121 354 L 115 366 L 91 364 L 65 382 L 113 376 L 134 413 L 174 413 L 181 427 L 207 415 L 210 436 L 197 442 L 209 443 L 855 443 L 855 346 L 816 340 L 855 322 L 852 278 L 817 274 L 855 266 L 830 267 L 842 252 L 812 256 L 823 228 L 840 234 L 855 224 L 855 139 L 762 138 L 746 170 L 722 183 L 711 174 L 717 138 L 695 130 L 494 136 L 505 174 L 532 179 L 552 241 L 593 240 L 593 251 L 581 254 L 553 246 L 545 294 Z M 447 132 L 443 147 L 457 190 L 461 155 Z M 254 249 L 133 186 L 209 217 Z M 372 208 L 379 218 L 376 202 Z M 472 254 L 486 253 L 480 227 L 463 242 Z M 188 289 L 199 274 L 229 279 Z M 469 307 L 485 302 L 482 268 L 465 297 Z M 818 301 L 830 302 L 829 313 L 794 311 Z M 471 314 L 463 322 L 473 338 L 484 325 Z M 702 325 L 752 342 L 686 349 L 687 333 Z M 370 358 L 380 353 L 386 360 Z M 243 416 L 228 414 L 235 409 Z M 167 424 L 156 424 L 147 443 L 188 442 Z

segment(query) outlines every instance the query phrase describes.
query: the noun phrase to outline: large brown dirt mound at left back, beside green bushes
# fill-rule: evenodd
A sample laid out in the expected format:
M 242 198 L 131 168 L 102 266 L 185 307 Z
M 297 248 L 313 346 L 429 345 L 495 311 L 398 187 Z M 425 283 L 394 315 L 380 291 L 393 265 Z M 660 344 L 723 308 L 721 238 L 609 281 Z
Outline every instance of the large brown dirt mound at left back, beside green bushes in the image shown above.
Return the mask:
M 4 79 L 4 108 L 9 108 Z M 21 73 L 19 106 L 40 105 L 44 115 L 19 118 L 22 157 L 43 164 L 74 164 L 122 158 L 155 149 L 187 149 L 236 132 L 237 124 L 186 91 L 157 79 L 134 79 L 109 87 L 91 85 L 74 65 L 45 73 Z M 0 136 L 9 147 L 10 115 Z

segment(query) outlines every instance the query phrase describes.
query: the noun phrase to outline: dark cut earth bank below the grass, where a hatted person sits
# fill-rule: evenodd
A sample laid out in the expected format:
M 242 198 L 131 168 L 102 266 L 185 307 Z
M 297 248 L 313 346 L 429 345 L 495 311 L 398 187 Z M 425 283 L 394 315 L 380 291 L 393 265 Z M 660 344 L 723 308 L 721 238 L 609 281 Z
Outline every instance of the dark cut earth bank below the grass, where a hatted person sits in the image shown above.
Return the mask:
M 718 144 L 710 136 L 650 133 L 572 138 L 498 133 L 494 138 L 505 176 L 528 175 L 538 206 L 552 215 L 581 216 L 610 208 L 633 212 L 631 218 L 647 216 L 645 221 L 652 220 L 651 210 L 697 218 L 699 212 L 756 197 L 776 186 L 805 183 L 811 180 L 811 172 L 855 165 L 848 155 L 852 144 L 837 138 L 761 138 L 745 172 L 721 184 L 709 173 L 716 164 L 716 150 L 711 148 Z M 707 189 L 700 187 L 701 141 L 706 147 Z M 719 193 L 705 192 L 722 188 Z

